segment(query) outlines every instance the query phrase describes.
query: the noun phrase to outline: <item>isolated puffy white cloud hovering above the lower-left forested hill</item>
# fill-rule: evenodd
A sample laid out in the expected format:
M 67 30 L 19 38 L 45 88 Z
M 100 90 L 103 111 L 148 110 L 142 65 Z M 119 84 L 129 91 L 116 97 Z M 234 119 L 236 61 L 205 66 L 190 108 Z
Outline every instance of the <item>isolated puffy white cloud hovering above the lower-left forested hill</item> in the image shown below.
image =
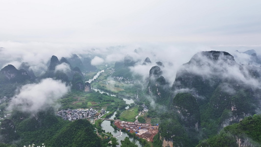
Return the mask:
M 12 98 L 8 109 L 37 113 L 49 106 L 58 107 L 57 99 L 68 93 L 70 87 L 60 80 L 43 79 L 40 83 L 27 84 Z

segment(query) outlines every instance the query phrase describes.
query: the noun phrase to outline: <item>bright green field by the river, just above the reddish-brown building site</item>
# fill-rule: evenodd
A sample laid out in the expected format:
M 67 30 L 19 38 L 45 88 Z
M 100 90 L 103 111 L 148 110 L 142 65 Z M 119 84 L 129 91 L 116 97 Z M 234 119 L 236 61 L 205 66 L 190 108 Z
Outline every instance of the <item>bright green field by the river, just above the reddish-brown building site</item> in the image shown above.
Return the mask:
M 134 122 L 136 119 L 135 117 L 139 114 L 138 107 L 132 107 L 128 110 L 125 110 L 120 115 L 120 120 Z

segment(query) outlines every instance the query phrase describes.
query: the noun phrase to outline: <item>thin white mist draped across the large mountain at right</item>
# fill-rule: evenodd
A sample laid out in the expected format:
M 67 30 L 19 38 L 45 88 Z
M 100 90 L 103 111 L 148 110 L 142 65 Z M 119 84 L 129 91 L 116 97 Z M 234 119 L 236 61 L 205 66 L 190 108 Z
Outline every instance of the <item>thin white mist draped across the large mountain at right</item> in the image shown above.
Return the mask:
M 251 74 L 250 70 L 253 69 L 260 72 L 260 67 L 248 64 L 240 65 L 233 60 L 232 56 L 223 53 L 221 53 L 218 60 L 213 60 L 199 52 L 193 56 L 190 64 L 183 66 L 180 71 L 200 75 L 207 79 L 219 77 L 221 79 L 235 80 L 252 88 L 260 88 L 261 79 Z

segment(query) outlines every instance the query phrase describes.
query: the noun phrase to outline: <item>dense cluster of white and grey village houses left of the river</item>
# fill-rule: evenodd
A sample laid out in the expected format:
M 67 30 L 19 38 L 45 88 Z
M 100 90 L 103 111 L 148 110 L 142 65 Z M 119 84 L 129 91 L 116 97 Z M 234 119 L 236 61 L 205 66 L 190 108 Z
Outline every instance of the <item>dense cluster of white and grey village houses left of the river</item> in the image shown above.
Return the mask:
M 79 119 L 87 119 L 87 118 L 93 118 L 93 117 L 101 117 L 103 114 L 105 114 L 105 110 L 101 109 L 100 113 L 98 113 L 95 109 L 68 109 L 68 110 L 60 110 L 56 112 L 56 116 L 62 117 L 64 120 L 79 120 Z

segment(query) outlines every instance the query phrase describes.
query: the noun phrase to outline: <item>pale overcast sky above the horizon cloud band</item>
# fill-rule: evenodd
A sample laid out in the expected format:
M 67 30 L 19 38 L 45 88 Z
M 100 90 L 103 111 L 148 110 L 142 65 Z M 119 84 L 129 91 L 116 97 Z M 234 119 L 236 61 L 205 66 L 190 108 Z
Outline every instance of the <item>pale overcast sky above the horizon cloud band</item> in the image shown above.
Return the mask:
M 0 43 L 260 46 L 260 8 L 261 0 L 1 0 Z

